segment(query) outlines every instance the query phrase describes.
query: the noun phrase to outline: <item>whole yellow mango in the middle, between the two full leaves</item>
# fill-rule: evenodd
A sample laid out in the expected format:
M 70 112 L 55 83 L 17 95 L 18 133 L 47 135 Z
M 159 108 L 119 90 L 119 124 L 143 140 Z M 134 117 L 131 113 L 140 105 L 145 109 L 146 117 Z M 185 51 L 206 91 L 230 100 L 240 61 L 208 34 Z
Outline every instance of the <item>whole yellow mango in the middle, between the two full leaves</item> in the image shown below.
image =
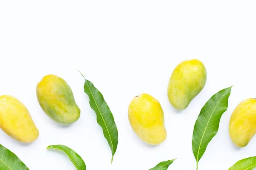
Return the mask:
M 130 102 L 128 118 L 134 132 L 148 144 L 157 145 L 167 137 L 163 109 L 153 96 L 141 94 Z

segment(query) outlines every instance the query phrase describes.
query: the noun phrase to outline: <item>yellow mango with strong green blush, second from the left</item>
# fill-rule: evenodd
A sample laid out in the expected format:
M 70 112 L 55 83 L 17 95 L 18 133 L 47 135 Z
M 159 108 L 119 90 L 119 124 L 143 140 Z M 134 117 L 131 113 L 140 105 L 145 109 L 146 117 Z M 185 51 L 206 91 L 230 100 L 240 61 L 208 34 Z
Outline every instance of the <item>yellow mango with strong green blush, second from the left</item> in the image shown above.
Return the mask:
M 61 77 L 52 74 L 43 77 L 36 94 L 43 111 L 55 122 L 71 124 L 79 119 L 80 108 L 70 86 Z

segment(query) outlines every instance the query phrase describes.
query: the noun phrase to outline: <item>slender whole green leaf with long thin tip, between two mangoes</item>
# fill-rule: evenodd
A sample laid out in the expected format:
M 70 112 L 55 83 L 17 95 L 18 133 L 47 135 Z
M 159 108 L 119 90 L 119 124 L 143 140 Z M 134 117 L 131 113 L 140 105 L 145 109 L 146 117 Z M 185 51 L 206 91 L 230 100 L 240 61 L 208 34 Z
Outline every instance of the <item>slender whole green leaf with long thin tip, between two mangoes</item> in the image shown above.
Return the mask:
M 81 74 L 81 72 L 80 72 Z M 81 74 L 83 76 L 83 74 Z M 84 77 L 84 76 L 83 76 Z M 97 122 L 102 127 L 104 137 L 108 141 L 108 145 L 112 151 L 111 164 L 113 162 L 113 156 L 116 153 L 118 143 L 118 131 L 113 114 L 105 102 L 102 94 L 94 87 L 93 83 L 85 79 L 84 92 L 89 96 L 90 107 L 95 111 L 97 116 Z

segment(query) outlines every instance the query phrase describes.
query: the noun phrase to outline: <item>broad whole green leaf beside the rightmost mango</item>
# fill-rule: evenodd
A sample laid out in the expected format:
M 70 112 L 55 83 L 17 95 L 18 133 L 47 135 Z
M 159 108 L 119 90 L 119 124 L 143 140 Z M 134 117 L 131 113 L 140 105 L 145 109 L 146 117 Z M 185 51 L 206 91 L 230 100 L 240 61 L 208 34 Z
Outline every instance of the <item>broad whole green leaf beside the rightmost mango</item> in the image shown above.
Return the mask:
M 192 150 L 196 159 L 197 170 L 198 161 L 203 156 L 209 142 L 217 134 L 221 116 L 227 111 L 231 88 L 232 86 L 214 94 L 201 109 L 195 122 Z

